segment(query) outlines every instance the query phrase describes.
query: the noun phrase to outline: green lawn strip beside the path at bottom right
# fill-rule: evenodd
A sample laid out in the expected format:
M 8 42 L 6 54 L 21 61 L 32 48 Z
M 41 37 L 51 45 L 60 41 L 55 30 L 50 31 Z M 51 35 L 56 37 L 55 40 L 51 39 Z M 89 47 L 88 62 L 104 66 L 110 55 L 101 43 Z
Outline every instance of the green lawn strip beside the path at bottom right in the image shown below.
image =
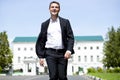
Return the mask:
M 89 75 L 102 78 L 103 80 L 120 80 L 120 73 L 89 73 Z

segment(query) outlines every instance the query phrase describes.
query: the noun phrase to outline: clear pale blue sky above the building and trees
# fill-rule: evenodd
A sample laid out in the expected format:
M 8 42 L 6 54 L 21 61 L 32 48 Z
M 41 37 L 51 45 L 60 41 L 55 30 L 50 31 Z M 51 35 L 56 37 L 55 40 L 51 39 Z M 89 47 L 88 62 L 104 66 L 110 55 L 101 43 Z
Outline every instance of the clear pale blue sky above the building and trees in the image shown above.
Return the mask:
M 9 40 L 15 37 L 38 36 L 41 23 L 50 18 L 49 3 L 53 0 L 0 0 L 0 32 Z M 75 36 L 101 35 L 108 28 L 120 27 L 120 0 L 56 0 L 59 16 L 69 19 Z

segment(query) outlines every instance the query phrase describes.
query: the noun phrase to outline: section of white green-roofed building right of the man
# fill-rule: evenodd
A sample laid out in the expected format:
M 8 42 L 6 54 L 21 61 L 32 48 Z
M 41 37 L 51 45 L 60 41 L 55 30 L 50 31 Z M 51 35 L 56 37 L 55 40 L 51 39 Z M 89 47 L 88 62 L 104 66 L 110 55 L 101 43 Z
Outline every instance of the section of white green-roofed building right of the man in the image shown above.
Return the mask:
M 102 36 L 75 36 L 75 55 L 73 55 L 73 72 L 87 68 L 103 68 L 103 37 Z

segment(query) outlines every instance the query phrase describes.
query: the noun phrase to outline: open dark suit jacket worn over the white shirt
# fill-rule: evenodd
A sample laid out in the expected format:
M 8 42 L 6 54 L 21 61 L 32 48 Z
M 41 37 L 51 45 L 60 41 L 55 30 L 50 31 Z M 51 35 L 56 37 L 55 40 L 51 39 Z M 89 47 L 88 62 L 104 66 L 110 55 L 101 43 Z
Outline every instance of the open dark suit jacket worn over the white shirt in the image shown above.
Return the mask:
M 60 19 L 60 26 L 62 30 L 62 41 L 65 50 L 70 50 L 72 54 L 74 53 L 73 46 L 74 46 L 74 35 L 68 19 L 64 19 L 59 17 Z M 45 44 L 47 41 L 47 29 L 49 26 L 50 19 L 43 22 L 41 25 L 41 32 L 38 36 L 36 42 L 36 54 L 39 58 L 45 58 Z

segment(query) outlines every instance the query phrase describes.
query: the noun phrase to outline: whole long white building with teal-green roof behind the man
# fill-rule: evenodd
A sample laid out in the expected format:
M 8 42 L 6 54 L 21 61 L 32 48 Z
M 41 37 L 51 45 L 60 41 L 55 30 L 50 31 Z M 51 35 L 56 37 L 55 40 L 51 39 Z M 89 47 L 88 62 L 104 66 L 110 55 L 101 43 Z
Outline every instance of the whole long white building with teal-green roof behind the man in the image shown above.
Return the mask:
M 39 66 L 35 53 L 37 37 L 16 37 L 12 42 L 13 69 L 22 70 L 23 75 L 36 75 L 36 72 L 47 73 L 47 65 Z M 73 75 L 89 67 L 103 67 L 103 38 L 102 36 L 75 36 L 75 54 L 69 59 L 68 75 Z

